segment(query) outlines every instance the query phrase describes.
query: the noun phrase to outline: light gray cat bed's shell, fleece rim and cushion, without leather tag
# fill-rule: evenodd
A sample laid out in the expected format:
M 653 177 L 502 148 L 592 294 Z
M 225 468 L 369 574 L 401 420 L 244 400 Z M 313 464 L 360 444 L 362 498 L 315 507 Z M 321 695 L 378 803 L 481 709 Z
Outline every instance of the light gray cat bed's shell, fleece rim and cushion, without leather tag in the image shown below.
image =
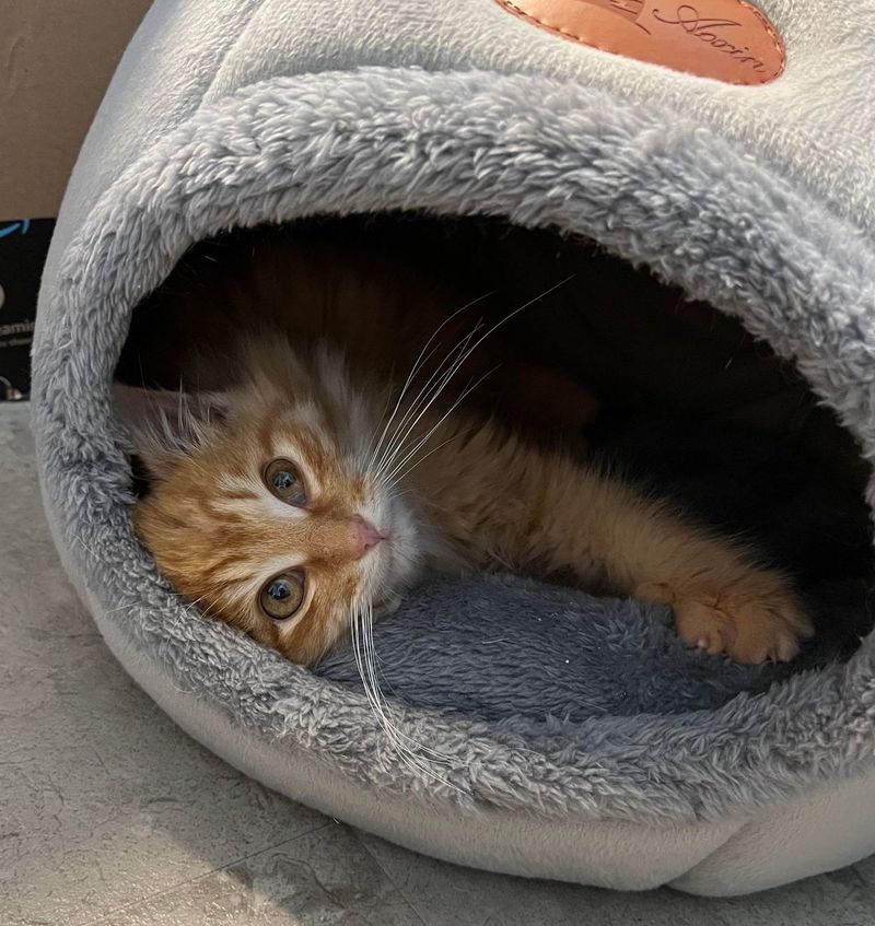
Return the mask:
M 860 36 L 875 15 L 850 28 L 820 0 L 759 5 L 786 72 L 734 86 L 493 0 L 155 3 L 67 192 L 33 400 L 66 567 L 194 737 L 327 813 L 501 871 L 727 894 L 875 851 L 872 635 L 848 660 L 742 668 L 684 649 L 635 602 L 439 583 L 377 637 L 396 723 L 446 759 L 435 778 L 388 747 L 343 653 L 308 672 L 173 595 L 131 534 L 113 413 L 131 313 L 192 244 L 406 210 L 576 233 L 645 265 L 792 361 L 871 459 L 875 75 Z

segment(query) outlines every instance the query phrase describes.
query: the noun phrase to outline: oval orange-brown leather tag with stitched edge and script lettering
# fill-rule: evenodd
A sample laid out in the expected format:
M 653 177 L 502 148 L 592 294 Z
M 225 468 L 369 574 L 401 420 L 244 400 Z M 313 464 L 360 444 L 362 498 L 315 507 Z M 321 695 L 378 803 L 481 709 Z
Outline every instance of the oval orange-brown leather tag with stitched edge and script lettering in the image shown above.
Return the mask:
M 497 2 L 571 42 L 726 83 L 769 83 L 786 65 L 778 31 L 747 0 Z

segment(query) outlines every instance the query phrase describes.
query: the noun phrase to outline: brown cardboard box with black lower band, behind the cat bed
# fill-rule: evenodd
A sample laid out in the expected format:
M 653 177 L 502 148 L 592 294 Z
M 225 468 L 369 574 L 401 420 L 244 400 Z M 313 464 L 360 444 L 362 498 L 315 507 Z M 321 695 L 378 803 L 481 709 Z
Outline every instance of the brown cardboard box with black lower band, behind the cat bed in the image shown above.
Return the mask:
M 36 294 L 94 113 L 150 0 L 0 4 L 0 400 L 26 398 Z

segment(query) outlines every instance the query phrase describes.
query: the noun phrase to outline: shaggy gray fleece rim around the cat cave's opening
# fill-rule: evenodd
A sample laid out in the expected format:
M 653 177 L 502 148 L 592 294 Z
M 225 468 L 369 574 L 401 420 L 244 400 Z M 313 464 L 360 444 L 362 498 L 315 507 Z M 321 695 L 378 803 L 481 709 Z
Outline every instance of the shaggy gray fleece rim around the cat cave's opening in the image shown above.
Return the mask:
M 533 104 L 533 101 L 537 105 Z M 597 716 L 527 739 L 405 708 L 448 784 L 385 748 L 364 699 L 200 620 L 130 530 L 109 382 L 132 306 L 195 241 L 314 214 L 489 214 L 592 237 L 739 317 L 875 450 L 875 255 L 844 221 L 676 113 L 536 77 L 278 78 L 198 112 L 102 197 L 40 317 L 35 423 L 68 569 L 104 619 L 277 748 L 394 792 L 581 819 L 718 820 L 871 763 L 873 638 L 847 666 L 713 712 Z M 870 501 L 872 493 L 870 493 Z

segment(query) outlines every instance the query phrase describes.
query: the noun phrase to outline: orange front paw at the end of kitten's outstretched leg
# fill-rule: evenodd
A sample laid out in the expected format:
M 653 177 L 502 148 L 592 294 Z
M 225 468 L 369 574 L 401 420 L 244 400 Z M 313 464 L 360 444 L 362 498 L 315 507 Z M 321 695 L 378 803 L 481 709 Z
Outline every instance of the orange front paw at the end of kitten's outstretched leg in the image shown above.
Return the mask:
M 739 663 L 789 661 L 814 628 L 802 602 L 780 574 L 750 569 L 728 582 L 699 579 L 662 585 L 650 597 L 669 603 L 678 636 L 710 655 Z

